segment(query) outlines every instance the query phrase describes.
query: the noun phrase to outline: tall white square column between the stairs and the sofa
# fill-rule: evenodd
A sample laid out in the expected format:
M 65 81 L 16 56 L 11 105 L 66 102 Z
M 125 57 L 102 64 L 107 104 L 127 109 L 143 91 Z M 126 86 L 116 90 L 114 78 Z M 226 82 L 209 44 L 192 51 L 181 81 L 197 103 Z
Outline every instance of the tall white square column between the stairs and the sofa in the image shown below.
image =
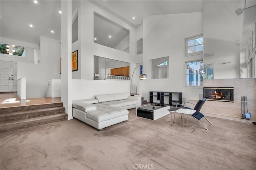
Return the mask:
M 61 100 L 68 114 L 68 120 L 72 116 L 72 0 L 61 1 Z

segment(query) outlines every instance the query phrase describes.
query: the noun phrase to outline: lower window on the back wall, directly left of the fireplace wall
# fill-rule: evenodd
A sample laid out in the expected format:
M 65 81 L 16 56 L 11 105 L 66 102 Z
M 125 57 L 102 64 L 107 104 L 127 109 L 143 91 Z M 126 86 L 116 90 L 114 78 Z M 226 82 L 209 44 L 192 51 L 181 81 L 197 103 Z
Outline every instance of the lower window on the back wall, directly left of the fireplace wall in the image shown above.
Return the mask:
M 186 86 L 203 85 L 203 61 L 186 62 Z

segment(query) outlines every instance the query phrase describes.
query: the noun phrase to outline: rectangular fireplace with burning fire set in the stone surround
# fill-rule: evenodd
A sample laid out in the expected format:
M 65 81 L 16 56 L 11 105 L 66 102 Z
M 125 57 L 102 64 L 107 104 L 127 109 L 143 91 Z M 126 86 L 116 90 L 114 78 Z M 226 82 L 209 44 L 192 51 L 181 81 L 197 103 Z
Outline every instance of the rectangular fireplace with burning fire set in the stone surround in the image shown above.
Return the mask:
M 234 102 L 234 87 L 204 87 L 204 98 L 212 101 Z

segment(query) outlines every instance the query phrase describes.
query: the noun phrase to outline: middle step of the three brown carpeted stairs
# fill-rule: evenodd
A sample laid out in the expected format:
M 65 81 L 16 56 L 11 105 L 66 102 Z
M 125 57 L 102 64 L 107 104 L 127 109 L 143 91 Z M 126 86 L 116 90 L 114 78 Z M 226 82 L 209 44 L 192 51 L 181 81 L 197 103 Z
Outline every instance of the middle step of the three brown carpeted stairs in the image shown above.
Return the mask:
M 10 122 L 10 121 L 18 121 L 23 119 L 30 119 L 35 117 L 43 117 L 48 115 L 56 115 L 60 113 L 65 113 L 64 107 L 52 107 L 52 108 L 44 108 L 44 109 L 34 109 L 34 110 L 26 110 L 26 111 L 18 111 L 18 112 L 10 112 L 10 113 L 1 113 L 1 123 Z

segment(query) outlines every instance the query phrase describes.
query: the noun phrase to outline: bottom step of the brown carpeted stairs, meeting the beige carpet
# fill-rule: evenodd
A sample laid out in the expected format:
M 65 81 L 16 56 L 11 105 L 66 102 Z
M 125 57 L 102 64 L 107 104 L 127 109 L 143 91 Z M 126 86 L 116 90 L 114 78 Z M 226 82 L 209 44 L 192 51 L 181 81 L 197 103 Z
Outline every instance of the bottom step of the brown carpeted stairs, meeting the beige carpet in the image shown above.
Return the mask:
M 16 129 L 25 128 L 25 127 L 32 127 L 32 126 L 42 125 L 46 123 L 64 121 L 64 120 L 68 120 L 67 118 L 68 118 L 68 115 L 66 113 L 60 113 L 56 115 L 49 115 L 49 116 L 30 118 L 30 119 L 24 119 L 19 121 L 6 122 L 6 123 L 1 123 L 0 131 L 7 132 L 10 130 L 16 130 Z

